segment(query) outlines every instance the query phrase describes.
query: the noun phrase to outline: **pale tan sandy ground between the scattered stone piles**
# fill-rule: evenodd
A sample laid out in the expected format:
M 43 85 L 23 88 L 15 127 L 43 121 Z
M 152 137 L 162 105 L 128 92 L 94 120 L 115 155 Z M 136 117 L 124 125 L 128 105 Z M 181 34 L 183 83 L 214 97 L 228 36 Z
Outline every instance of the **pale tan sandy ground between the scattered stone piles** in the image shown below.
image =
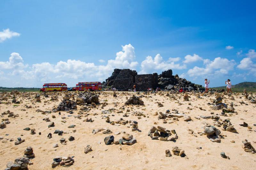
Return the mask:
M 72 92 L 74 93 L 74 92 Z M 221 139 L 221 143 L 211 142 L 206 135 L 198 135 L 197 132 L 202 132 L 204 129 L 204 123 L 213 124 L 215 121 L 212 119 L 195 119 L 200 115 L 211 116 L 211 112 L 220 114 L 221 110 L 212 110 L 211 106 L 207 103 L 212 103 L 215 99 L 214 95 L 201 96 L 197 98 L 196 95 L 188 93 L 189 101 L 183 100 L 183 94 L 174 94 L 176 99 L 170 98 L 164 94 L 149 94 L 143 93 L 136 94 L 136 96 L 144 95 L 142 100 L 144 106 L 126 106 L 124 102 L 126 97 L 131 97 L 133 92 L 117 92 L 117 97 L 113 97 L 112 92 L 101 92 L 100 103 L 107 100 L 108 105 L 101 108 L 101 105 L 97 108 L 92 108 L 89 112 L 84 112 L 82 119 L 77 119 L 74 115 L 77 115 L 81 106 L 77 106 L 77 110 L 73 114 L 68 112 L 52 112 L 46 113 L 36 112 L 37 109 L 43 111 L 52 111 L 54 106 L 57 106 L 64 96 L 64 92 L 49 93 L 49 98 L 45 98 L 41 95 L 41 103 L 35 102 L 36 93 L 21 93 L 15 95 L 17 101 L 21 100 L 20 104 L 0 104 L 0 113 L 4 111 L 11 111 L 14 114 L 19 114 L 19 117 L 9 118 L 10 124 L 7 124 L 6 128 L 0 129 L 0 137 L 4 139 L 0 140 L 0 167 L 6 168 L 8 161 L 14 161 L 15 158 L 23 156 L 24 150 L 31 146 L 33 147 L 35 158 L 31 159 L 33 165 L 28 166 L 29 169 L 52 169 L 51 163 L 56 156 L 74 156 L 75 163 L 70 167 L 56 166 L 54 169 L 255 169 L 256 154 L 245 152 L 242 148 L 242 140 L 247 139 L 251 142 L 254 148 L 256 147 L 256 127 L 253 124 L 256 123 L 255 106 L 251 104 L 249 100 L 246 100 L 241 94 L 233 95 L 235 100 L 230 100 L 228 95 L 225 95 L 223 102 L 226 104 L 234 103 L 236 113 L 232 116 L 220 116 L 221 119 L 230 119 L 232 125 L 237 130 L 237 133 L 221 130 L 222 127 L 216 127 L 220 129 L 224 139 Z M 49 101 L 53 94 L 57 94 L 59 101 Z M 76 94 L 76 93 L 74 93 Z M 27 95 L 26 97 L 24 95 Z M 28 96 L 31 99 L 28 99 Z M 3 97 L 4 95 L 2 95 Z M 8 96 L 8 95 L 6 95 Z M 7 101 L 12 101 L 12 96 L 9 93 Z M 171 94 L 172 96 L 172 94 Z M 253 94 L 255 97 L 255 94 Z M 76 97 L 75 97 L 76 98 Z M 243 100 L 245 104 L 239 102 Z M 1 102 L 7 102 L 2 100 Z M 46 102 L 46 103 L 45 103 Z M 158 107 L 156 102 L 161 102 L 164 106 Z M 114 103 L 117 106 L 114 106 Z M 180 104 L 179 104 L 180 103 Z M 191 105 L 189 105 L 191 104 Z M 248 105 L 246 105 L 248 104 Z M 31 105 L 32 108 L 27 109 L 25 105 Z M 124 113 L 116 113 L 124 107 L 124 113 L 127 109 L 129 117 L 123 117 Z M 192 108 L 192 110 L 189 110 Z M 202 107 L 204 110 L 200 110 Z M 118 120 L 123 118 L 124 120 L 136 120 L 138 121 L 138 128 L 140 131 L 133 131 L 130 124 L 126 125 L 110 125 L 106 122 L 105 118 L 102 118 L 102 110 L 108 110 L 115 108 L 110 114 L 110 120 Z M 21 111 L 25 109 L 25 111 Z M 179 121 L 167 118 L 167 123 L 163 123 L 164 120 L 159 119 L 156 112 L 163 112 L 169 109 L 171 112 L 173 109 L 177 109 L 179 113 L 185 113 L 191 117 L 191 121 L 184 121 L 184 118 L 179 118 Z M 138 111 L 143 112 L 146 117 L 133 115 L 132 113 Z M 98 113 L 98 115 L 93 115 Z M 89 114 L 84 117 L 85 114 Z M 1 114 L 0 114 L 1 115 Z M 52 118 L 55 115 L 56 118 Z M 68 115 L 72 115 L 68 117 Z M 66 117 L 66 123 L 61 122 L 61 117 Z M 43 119 L 49 117 L 51 121 L 55 123 L 55 127 L 48 128 L 49 122 Z M 7 115 L 3 115 L 1 119 L 7 118 Z M 93 122 L 83 121 L 86 118 L 92 118 Z M 154 124 L 156 122 L 157 124 Z M 252 129 L 239 126 L 243 122 L 248 123 Z M 69 125 L 76 125 L 75 128 L 68 128 Z M 148 131 L 152 126 L 161 126 L 168 130 L 175 129 L 178 135 L 176 142 L 172 141 L 160 141 L 151 140 L 148 136 Z M 24 128 L 35 128 L 36 134 L 31 135 L 30 131 L 23 130 Z M 104 138 L 106 134 L 102 134 L 102 131 L 97 134 L 92 134 L 93 129 L 108 128 L 114 135 L 115 132 L 121 132 L 120 135 L 114 135 L 115 140 L 122 138 L 122 131 L 132 134 L 137 139 L 137 143 L 133 145 L 105 145 Z M 56 130 L 63 130 L 69 132 L 59 136 L 53 134 Z M 192 129 L 194 134 L 188 133 L 188 129 Z M 76 132 L 72 132 L 76 130 Z M 38 133 L 41 132 L 42 135 Z M 52 133 L 52 138 L 48 139 L 47 135 Z M 9 135 L 6 135 L 9 134 Z M 23 136 L 21 136 L 23 135 Z M 74 141 L 68 141 L 69 136 L 74 136 Z M 14 145 L 17 137 L 25 139 L 25 142 Z M 65 138 L 67 144 L 60 144 L 60 138 Z M 10 142 L 10 139 L 14 141 Z M 234 140 L 235 143 L 230 141 Z M 2 141 L 7 141 L 3 143 Z M 100 144 L 98 142 L 101 142 Z M 53 145 L 58 143 L 59 147 L 53 148 Z M 92 151 L 85 154 L 84 148 L 90 145 Z M 181 158 L 172 153 L 172 147 L 178 146 L 180 149 L 185 150 L 187 158 Z M 122 150 L 120 150 L 120 147 Z M 202 149 L 197 149 L 202 147 Z M 165 150 L 169 149 L 172 153 L 172 157 L 165 157 Z M 220 152 L 225 152 L 230 159 L 225 159 L 220 156 Z

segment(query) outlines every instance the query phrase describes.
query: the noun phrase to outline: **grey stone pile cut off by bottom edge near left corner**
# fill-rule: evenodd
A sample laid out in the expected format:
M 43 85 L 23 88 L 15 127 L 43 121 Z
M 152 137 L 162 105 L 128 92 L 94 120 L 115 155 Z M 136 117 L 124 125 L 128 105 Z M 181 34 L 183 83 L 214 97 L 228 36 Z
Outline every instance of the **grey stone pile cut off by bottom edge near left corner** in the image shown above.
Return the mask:
M 12 161 L 7 163 L 5 170 L 26 170 L 29 164 L 31 164 L 29 158 L 16 158 L 14 163 Z

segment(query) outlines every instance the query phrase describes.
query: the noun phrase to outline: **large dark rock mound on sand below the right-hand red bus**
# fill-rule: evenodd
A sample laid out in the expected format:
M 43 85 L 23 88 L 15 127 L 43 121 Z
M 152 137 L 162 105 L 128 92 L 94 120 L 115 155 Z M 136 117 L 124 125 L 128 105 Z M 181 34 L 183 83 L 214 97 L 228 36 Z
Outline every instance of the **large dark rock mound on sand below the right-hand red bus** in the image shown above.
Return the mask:
M 91 103 L 99 103 L 98 95 L 95 95 L 91 92 L 83 92 L 80 93 L 79 96 L 76 98 L 76 104 L 84 105 L 84 104 L 91 104 Z

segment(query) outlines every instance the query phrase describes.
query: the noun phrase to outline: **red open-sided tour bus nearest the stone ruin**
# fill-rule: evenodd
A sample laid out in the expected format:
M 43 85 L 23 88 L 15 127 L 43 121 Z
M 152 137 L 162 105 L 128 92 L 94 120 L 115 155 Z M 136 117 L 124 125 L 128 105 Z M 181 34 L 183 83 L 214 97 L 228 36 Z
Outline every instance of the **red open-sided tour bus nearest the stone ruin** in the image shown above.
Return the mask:
M 90 91 L 100 91 L 102 89 L 101 82 L 95 81 L 95 82 L 79 82 L 76 84 L 76 87 L 73 89 L 73 91 L 84 91 L 85 89 Z

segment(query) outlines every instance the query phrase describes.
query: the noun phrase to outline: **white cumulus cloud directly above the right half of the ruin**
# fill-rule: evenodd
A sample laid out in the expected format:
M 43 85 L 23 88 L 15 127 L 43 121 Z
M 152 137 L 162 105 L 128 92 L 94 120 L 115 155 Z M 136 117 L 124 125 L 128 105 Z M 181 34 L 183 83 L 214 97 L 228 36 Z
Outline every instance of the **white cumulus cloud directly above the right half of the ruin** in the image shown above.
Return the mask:
M 177 60 L 177 59 L 176 59 Z M 151 56 L 146 57 L 141 62 L 140 74 L 152 73 L 156 71 L 164 71 L 168 69 L 185 69 L 186 65 L 174 64 L 174 62 L 166 62 L 160 54 L 157 54 L 154 59 Z

